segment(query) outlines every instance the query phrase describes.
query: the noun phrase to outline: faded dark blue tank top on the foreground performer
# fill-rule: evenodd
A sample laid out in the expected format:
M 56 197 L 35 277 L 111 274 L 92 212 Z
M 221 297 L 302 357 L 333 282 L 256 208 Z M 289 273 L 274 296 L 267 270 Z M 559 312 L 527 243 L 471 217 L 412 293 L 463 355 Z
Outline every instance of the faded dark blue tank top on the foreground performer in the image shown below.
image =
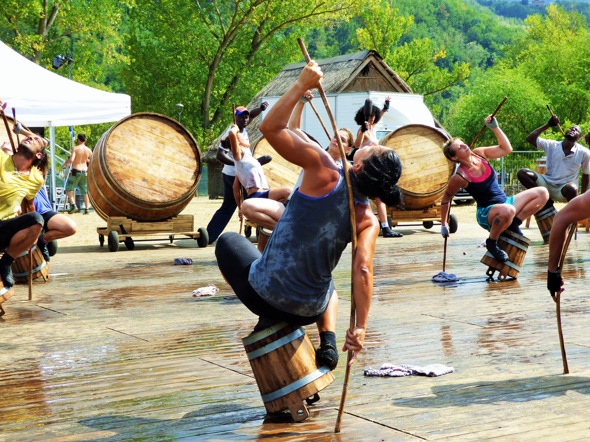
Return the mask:
M 369 200 L 354 192 L 355 204 Z M 336 187 L 322 197 L 296 190 L 274 227 L 248 281 L 268 304 L 299 316 L 314 316 L 330 299 L 332 271 L 350 242 L 350 215 L 343 169 Z

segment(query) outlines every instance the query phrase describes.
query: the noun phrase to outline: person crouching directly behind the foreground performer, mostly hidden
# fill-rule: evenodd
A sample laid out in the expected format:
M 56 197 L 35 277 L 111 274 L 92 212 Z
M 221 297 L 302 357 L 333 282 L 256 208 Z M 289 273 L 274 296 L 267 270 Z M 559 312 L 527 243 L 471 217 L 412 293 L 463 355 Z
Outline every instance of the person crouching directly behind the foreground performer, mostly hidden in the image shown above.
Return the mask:
M 287 126 L 287 128 L 289 128 L 291 133 L 299 136 L 305 143 L 314 143 L 321 149 L 322 146 L 320 146 L 320 143 L 318 143 L 315 138 L 301 130 L 301 116 L 303 116 L 303 108 L 307 103 L 308 98 L 309 100 L 313 100 L 312 91 L 307 90 L 303 93 L 303 97 L 301 97 L 295 105 L 295 110 L 293 111 L 293 114 L 291 114 L 289 126 Z M 348 128 L 343 127 L 338 131 L 338 136 L 340 137 L 340 141 L 342 141 L 342 146 L 344 146 L 345 153 L 348 153 L 350 149 L 352 149 L 352 146 L 355 142 L 352 132 L 350 132 Z M 340 150 L 338 148 L 335 136 L 332 137 L 332 140 L 330 140 L 330 144 L 328 145 L 326 151 L 337 166 L 343 167 L 342 159 L 340 158 Z M 271 199 L 250 198 L 242 203 L 242 213 L 251 222 L 259 224 L 263 227 L 267 227 L 267 229 L 274 229 L 274 226 L 277 225 L 277 221 L 283 215 L 285 207 L 287 207 L 291 196 L 293 196 L 293 193 L 296 189 L 299 189 L 302 180 L 303 170 L 301 170 L 299 173 L 297 182 L 295 183 L 293 190 L 289 194 L 289 198 L 287 198 L 286 201 L 280 203 Z

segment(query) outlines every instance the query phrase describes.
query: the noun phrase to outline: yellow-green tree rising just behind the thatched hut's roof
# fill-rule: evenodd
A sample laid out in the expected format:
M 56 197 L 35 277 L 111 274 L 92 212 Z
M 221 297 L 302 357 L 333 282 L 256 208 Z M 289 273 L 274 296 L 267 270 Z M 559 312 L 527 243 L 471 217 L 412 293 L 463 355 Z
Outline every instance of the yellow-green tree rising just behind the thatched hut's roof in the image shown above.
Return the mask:
M 449 17 L 445 7 L 439 6 L 442 19 Z M 359 47 L 374 49 L 383 60 L 414 90 L 424 95 L 444 91 L 455 83 L 465 81 L 469 76 L 469 65 L 456 61 L 450 70 L 436 64 L 446 57 L 444 48 L 436 48 L 429 38 L 415 38 L 399 44 L 400 39 L 414 24 L 414 17 L 401 17 L 398 9 L 389 2 L 370 1 L 360 9 L 359 21 L 363 28 L 356 31 Z

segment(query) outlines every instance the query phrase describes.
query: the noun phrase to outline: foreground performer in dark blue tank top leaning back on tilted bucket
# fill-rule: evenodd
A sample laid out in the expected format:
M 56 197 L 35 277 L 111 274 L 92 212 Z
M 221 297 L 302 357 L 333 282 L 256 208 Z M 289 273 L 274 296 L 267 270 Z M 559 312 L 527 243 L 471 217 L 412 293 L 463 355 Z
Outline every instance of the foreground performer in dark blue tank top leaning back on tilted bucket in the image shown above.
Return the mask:
M 350 242 L 350 213 L 344 171 L 315 143 L 287 128 L 289 117 L 308 90 L 317 87 L 322 71 L 313 60 L 296 84 L 273 106 L 260 131 L 280 156 L 303 167 L 301 186 L 278 220 L 266 249 L 260 253 L 250 240 L 227 232 L 215 248 L 219 270 L 240 301 L 259 316 L 254 331 L 278 321 L 293 325 L 314 322 L 320 332 L 319 364 L 336 367 L 338 299 L 332 281 L 343 250 Z M 353 351 L 351 363 L 363 348 L 373 293 L 373 253 L 379 223 L 368 197 L 390 206 L 399 204 L 397 187 L 401 161 L 386 147 L 367 150 L 349 170 L 355 194 L 358 246 L 352 278 L 356 326 L 346 332 L 343 351 Z

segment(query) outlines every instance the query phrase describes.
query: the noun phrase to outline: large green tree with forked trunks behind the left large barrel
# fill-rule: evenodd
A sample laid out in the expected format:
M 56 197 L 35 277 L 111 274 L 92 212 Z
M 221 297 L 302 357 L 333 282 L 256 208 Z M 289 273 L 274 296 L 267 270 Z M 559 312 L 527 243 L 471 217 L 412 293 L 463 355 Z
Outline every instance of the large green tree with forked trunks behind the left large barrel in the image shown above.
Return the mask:
M 183 100 L 189 125 L 208 131 L 228 122 L 231 101 L 247 103 L 285 62 L 301 59 L 296 36 L 348 19 L 356 2 L 138 1 L 127 90 L 141 110 Z

